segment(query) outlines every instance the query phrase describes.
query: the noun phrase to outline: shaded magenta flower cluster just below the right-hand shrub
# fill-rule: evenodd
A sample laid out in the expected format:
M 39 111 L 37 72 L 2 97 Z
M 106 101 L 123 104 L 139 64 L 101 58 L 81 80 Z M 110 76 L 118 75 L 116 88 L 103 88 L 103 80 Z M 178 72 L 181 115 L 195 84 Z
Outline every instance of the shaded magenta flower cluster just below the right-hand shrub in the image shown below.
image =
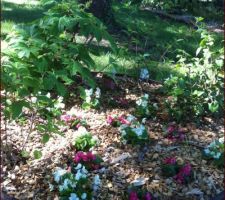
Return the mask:
M 183 129 L 173 124 L 167 127 L 165 137 L 172 141 L 182 141 L 185 138 L 185 134 Z

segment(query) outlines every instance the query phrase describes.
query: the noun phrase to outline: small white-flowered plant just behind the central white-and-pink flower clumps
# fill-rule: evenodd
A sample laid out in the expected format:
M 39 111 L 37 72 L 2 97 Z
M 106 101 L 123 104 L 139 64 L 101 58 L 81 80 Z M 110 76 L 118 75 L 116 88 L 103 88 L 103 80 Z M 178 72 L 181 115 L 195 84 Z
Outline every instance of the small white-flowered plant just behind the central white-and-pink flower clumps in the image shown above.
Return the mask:
M 141 98 L 136 101 L 136 116 L 137 117 L 148 117 L 150 115 L 149 106 L 148 106 L 149 95 L 144 94 Z

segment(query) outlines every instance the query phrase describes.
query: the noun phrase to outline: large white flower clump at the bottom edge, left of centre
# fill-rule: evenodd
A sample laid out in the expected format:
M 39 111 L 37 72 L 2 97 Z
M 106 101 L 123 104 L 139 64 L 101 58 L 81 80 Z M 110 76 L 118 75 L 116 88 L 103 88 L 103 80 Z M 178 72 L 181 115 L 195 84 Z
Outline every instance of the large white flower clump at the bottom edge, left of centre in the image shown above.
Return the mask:
M 96 175 L 91 182 L 88 171 L 80 163 L 75 167 L 75 173 L 58 168 L 54 173 L 54 181 L 58 184 L 62 199 L 80 200 L 91 199 L 92 193 L 100 187 L 99 176 Z

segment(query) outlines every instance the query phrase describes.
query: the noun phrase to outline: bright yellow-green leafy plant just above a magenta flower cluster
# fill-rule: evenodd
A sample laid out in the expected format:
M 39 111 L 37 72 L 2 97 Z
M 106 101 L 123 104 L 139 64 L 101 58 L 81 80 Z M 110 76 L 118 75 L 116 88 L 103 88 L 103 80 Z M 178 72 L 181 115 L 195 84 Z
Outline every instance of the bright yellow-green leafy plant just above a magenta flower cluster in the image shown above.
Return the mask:
M 74 147 L 77 151 L 89 151 L 92 147 L 97 145 L 97 139 L 91 133 L 82 133 L 75 139 Z

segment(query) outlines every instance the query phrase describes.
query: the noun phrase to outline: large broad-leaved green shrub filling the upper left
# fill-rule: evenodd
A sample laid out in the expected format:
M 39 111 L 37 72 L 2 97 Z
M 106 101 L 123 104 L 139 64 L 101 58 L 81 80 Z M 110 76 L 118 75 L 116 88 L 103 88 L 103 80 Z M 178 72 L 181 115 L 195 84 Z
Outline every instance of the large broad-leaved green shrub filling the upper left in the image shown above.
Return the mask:
M 53 4 L 43 18 L 17 26 L 6 38 L 9 48 L 3 52 L 2 84 L 12 99 L 7 104 L 12 118 L 19 117 L 23 107 L 32 110 L 27 100 L 31 94 L 37 97 L 38 92 L 51 91 L 68 95 L 67 86 L 74 82 L 75 75 L 95 87 L 90 73 L 95 62 L 89 55 L 88 41 L 78 41 L 81 36 L 98 42 L 104 38 L 116 48 L 104 25 L 76 1 L 45 2 Z M 45 104 L 49 106 L 47 100 Z

